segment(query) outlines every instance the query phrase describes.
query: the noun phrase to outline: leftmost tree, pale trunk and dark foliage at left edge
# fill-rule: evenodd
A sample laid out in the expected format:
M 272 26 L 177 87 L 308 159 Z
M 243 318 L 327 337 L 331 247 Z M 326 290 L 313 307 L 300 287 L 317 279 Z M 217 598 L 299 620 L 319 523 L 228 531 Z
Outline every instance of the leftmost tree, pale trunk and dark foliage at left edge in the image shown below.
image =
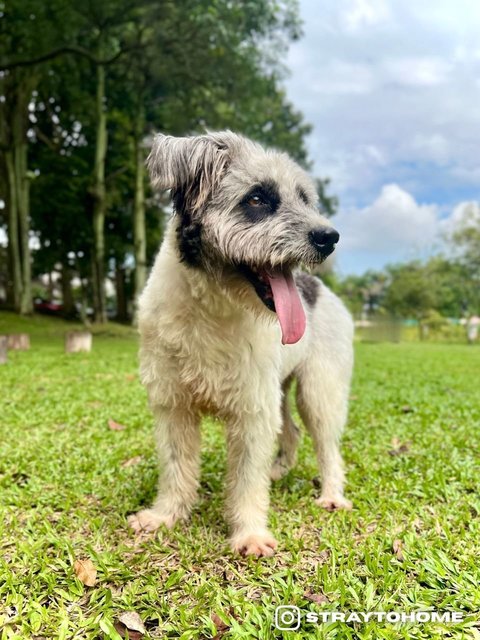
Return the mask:
M 22 0 L 2 5 L 0 15 L 0 171 L 7 208 L 13 307 L 32 311 L 28 132 L 33 91 L 45 77 L 55 43 L 68 33 L 64 3 Z

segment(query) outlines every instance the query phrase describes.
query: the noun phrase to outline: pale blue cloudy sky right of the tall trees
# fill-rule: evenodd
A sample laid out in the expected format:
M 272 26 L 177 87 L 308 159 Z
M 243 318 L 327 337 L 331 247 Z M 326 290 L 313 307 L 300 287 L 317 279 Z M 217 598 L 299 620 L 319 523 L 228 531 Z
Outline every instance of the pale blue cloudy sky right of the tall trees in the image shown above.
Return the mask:
M 287 92 L 339 196 L 341 274 L 425 258 L 480 200 L 480 0 L 300 0 Z

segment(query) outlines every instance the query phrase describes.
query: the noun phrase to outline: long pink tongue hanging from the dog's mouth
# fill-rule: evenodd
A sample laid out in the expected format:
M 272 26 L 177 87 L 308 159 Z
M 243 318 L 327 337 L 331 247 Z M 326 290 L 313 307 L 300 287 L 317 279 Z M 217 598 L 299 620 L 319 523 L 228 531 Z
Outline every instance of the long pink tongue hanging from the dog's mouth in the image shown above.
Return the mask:
M 282 327 L 282 344 L 295 344 L 305 333 L 306 318 L 291 273 L 266 274 L 272 287 L 275 310 Z

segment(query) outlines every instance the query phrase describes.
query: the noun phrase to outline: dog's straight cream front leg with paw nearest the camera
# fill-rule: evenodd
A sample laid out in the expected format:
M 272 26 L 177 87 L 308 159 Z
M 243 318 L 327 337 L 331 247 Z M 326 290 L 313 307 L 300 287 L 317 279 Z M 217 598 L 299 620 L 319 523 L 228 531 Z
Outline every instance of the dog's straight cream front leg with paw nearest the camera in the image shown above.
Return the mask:
M 245 414 L 227 426 L 227 517 L 232 548 L 243 555 L 271 556 L 277 546 L 267 521 L 270 467 L 279 430 L 279 410 Z

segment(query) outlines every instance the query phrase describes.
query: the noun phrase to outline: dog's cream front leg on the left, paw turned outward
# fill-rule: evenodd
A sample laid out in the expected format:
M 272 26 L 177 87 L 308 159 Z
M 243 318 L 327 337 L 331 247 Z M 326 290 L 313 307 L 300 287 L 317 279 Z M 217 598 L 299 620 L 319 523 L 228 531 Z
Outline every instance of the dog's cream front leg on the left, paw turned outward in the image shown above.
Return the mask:
M 129 517 L 137 532 L 173 527 L 188 518 L 197 497 L 200 473 L 200 419 L 186 409 L 153 407 L 160 459 L 158 493 L 150 509 Z

